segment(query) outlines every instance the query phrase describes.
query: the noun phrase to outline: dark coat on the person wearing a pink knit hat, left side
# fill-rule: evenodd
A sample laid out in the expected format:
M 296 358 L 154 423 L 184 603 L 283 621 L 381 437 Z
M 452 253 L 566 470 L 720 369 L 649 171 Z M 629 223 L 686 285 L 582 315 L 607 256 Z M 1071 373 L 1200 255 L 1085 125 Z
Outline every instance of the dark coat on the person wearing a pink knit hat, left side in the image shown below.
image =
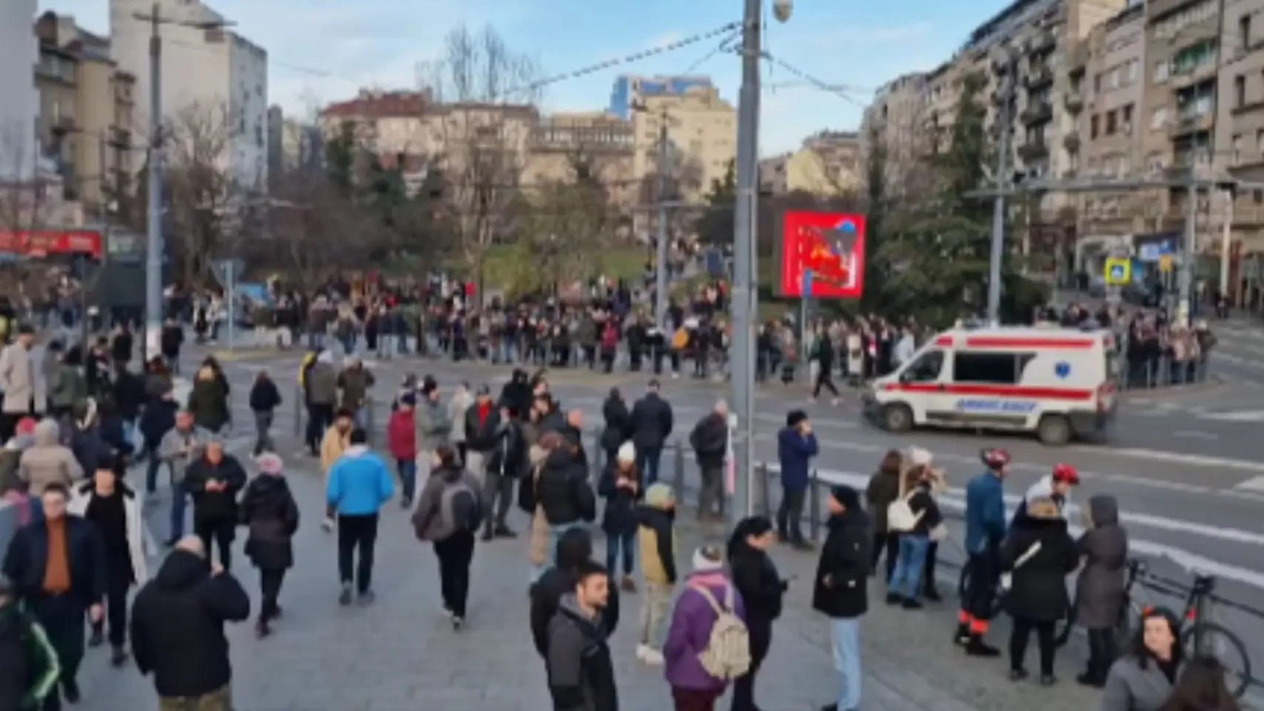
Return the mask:
M 246 527 L 245 554 L 259 570 L 295 565 L 292 544 L 298 530 L 298 504 L 283 476 L 254 477 L 241 494 L 241 525 Z

